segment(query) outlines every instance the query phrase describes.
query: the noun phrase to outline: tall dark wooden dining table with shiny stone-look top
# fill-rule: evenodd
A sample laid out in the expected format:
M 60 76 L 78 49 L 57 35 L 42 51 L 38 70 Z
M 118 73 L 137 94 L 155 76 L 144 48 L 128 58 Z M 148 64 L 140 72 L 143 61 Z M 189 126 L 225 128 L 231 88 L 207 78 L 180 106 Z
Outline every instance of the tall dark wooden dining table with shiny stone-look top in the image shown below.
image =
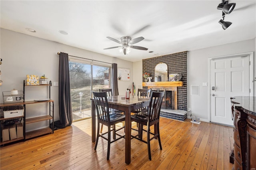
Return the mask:
M 131 111 L 147 107 L 150 103 L 150 97 L 130 96 L 126 99 L 124 96 L 109 96 L 108 106 L 112 109 L 118 109 L 125 114 L 125 163 L 131 162 Z M 94 99 L 91 99 L 91 114 L 92 114 L 92 142 L 96 140 L 96 107 Z M 156 128 L 156 127 L 155 127 Z M 155 129 L 156 130 L 156 129 Z

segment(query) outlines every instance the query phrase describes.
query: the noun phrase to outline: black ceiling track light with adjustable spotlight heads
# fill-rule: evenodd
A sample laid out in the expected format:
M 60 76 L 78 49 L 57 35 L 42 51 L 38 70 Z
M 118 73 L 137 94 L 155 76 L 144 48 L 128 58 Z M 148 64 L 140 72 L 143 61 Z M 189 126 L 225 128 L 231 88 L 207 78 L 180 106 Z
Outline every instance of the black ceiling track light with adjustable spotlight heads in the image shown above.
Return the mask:
M 228 1 L 225 2 L 225 0 L 222 0 L 222 3 L 217 6 L 218 10 L 222 10 L 222 20 L 219 21 L 219 23 L 222 25 L 222 28 L 226 30 L 232 22 L 225 22 L 225 14 L 230 14 L 236 6 L 236 3 L 230 3 L 228 4 Z

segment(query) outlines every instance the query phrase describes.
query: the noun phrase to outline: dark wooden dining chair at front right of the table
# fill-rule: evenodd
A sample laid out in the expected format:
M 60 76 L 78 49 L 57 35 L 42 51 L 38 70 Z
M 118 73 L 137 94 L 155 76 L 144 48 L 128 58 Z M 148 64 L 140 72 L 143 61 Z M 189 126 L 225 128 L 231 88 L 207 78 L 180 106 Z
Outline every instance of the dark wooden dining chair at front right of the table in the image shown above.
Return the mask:
M 134 129 L 138 131 L 138 134 L 136 136 L 132 136 L 132 138 L 136 138 L 142 142 L 145 142 L 148 144 L 148 159 L 151 160 L 151 151 L 150 151 L 150 140 L 158 137 L 158 142 L 160 146 L 160 150 L 162 150 L 161 140 L 160 140 L 160 130 L 159 130 L 159 117 L 160 117 L 160 110 L 162 105 L 162 100 L 164 97 L 164 91 L 163 92 L 152 92 L 150 97 L 150 104 L 148 106 L 147 115 L 140 112 L 136 115 L 131 115 L 131 121 L 134 121 L 139 124 L 138 129 Z M 147 126 L 147 130 L 143 129 L 143 126 Z M 156 134 L 150 132 L 150 126 L 156 125 L 157 130 Z M 142 132 L 147 132 L 147 141 L 142 139 Z M 150 134 L 154 135 L 152 138 L 150 138 Z

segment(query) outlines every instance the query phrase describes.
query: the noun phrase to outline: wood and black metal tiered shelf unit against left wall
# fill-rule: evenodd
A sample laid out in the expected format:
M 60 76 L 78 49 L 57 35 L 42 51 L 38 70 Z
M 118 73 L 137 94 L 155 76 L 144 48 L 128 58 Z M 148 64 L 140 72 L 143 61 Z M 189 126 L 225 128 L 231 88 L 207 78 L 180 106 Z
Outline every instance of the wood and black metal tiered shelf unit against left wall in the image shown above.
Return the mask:
M 54 101 L 50 99 L 50 87 L 52 86 L 52 82 L 50 81 L 49 84 L 45 84 L 45 85 L 26 85 L 25 80 L 24 80 L 24 82 L 23 82 L 24 97 L 26 96 L 26 91 L 27 90 L 29 91 L 29 89 L 27 89 L 27 88 L 37 88 L 39 86 L 48 88 L 47 93 L 48 93 L 49 99 L 45 99 L 45 100 L 42 99 L 41 101 L 34 101 L 34 100 L 26 101 L 26 100 L 23 100 L 23 101 L 20 101 L 20 102 L 10 102 L 10 103 L 0 104 L 1 109 L 4 108 L 4 107 L 17 106 L 17 105 L 22 105 L 24 107 L 24 114 L 22 116 L 10 117 L 10 118 L 0 117 L 1 123 L 3 123 L 6 120 L 19 118 L 23 122 L 23 134 L 24 134 L 22 138 L 7 140 L 7 141 L 4 141 L 4 142 L 2 141 L 2 138 L 1 138 L 1 142 L 0 142 L 1 145 L 7 144 L 7 143 L 10 143 L 10 142 L 15 142 L 15 141 L 18 141 L 18 140 L 26 140 L 26 139 L 29 139 L 29 138 L 34 138 L 36 136 L 40 136 L 40 135 L 43 135 L 43 134 L 54 133 Z M 37 91 L 37 92 L 40 93 L 40 91 Z M 48 105 L 47 106 L 48 111 L 46 111 L 46 112 L 43 111 L 44 113 L 42 113 L 39 116 L 34 115 L 34 113 L 33 113 L 32 117 L 30 115 L 30 117 L 28 118 L 30 110 L 26 109 L 26 106 L 32 105 L 32 104 L 33 105 L 38 105 L 39 103 L 46 103 L 46 105 Z M 36 127 L 36 123 L 42 122 L 42 121 L 49 121 L 48 127 L 43 127 L 43 128 Z M 28 131 L 28 130 L 26 130 L 26 125 L 32 124 L 32 123 L 34 123 L 33 126 L 35 126 L 35 130 L 31 130 L 29 132 L 26 132 L 26 131 Z

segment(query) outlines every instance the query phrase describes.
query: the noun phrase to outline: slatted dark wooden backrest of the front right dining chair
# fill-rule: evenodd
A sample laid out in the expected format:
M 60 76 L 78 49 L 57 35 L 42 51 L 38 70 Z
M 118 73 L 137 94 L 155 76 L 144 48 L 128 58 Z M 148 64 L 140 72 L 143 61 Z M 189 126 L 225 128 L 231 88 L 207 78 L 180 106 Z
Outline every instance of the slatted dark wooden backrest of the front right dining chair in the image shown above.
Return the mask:
M 148 122 L 149 123 L 159 120 L 163 98 L 164 98 L 164 91 L 151 93 L 150 104 L 148 106 Z

